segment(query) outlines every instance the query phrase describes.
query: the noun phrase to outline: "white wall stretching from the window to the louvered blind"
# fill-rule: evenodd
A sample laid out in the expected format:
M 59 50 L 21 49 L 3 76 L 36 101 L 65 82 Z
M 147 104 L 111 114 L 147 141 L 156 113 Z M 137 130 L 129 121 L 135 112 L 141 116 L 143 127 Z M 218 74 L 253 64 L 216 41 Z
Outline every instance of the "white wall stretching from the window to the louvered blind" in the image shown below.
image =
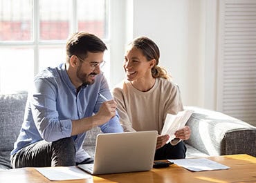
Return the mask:
M 161 50 L 159 65 L 179 84 L 183 105 L 215 110 L 217 0 L 125 2 L 125 44 L 142 35 L 153 39 Z M 124 77 L 122 69 L 114 72 L 112 86 Z

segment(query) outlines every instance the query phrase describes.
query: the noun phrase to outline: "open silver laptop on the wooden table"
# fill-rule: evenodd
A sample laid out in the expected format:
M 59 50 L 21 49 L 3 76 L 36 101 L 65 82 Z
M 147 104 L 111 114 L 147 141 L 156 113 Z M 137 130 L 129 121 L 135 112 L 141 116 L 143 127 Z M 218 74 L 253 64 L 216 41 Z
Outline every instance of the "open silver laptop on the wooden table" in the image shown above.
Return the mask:
M 92 175 L 149 171 L 157 136 L 157 131 L 98 134 L 94 163 L 78 167 Z

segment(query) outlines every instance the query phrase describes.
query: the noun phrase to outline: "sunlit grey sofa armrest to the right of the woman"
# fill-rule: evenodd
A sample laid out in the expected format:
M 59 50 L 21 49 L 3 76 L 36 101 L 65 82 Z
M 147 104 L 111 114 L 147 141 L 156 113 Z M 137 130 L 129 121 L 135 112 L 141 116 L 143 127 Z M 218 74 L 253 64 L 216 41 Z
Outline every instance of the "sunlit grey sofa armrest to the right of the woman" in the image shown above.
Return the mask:
M 248 154 L 256 157 L 256 128 L 234 117 L 203 108 L 185 106 L 191 136 L 186 143 L 208 155 Z

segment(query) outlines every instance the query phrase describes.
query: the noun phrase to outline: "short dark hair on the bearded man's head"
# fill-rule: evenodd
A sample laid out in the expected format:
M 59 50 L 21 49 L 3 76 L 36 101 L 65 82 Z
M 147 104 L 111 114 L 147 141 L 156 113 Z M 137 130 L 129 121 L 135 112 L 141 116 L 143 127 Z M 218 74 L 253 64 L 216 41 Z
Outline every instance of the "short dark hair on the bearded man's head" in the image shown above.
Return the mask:
M 107 50 L 104 42 L 88 32 L 76 32 L 66 43 L 66 55 L 68 57 L 77 55 L 84 59 L 88 52 L 104 52 L 104 50 Z

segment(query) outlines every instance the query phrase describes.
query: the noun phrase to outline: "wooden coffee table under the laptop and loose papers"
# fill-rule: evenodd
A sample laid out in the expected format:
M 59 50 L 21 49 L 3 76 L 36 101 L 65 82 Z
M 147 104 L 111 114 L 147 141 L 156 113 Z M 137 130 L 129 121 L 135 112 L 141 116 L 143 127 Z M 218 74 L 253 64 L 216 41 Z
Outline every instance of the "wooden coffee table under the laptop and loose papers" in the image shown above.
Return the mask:
M 208 157 L 210 160 L 230 166 L 228 170 L 191 172 L 172 164 L 168 168 L 152 168 L 151 171 L 137 173 L 116 173 L 93 176 L 93 182 L 256 182 L 256 158 L 250 155 L 223 155 Z M 0 171 L 0 182 L 52 182 L 37 172 L 35 168 L 17 168 Z M 92 180 L 68 180 L 59 182 L 92 182 Z

